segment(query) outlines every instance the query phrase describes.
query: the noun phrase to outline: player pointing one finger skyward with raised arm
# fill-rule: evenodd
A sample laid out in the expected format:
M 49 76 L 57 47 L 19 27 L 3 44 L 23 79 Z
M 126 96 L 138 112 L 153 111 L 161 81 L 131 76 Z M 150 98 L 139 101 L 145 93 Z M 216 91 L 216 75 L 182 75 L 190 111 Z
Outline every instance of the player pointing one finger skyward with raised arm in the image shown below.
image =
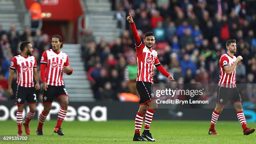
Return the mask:
M 156 68 L 166 76 L 169 81 L 174 81 L 174 78 L 161 66 L 158 59 L 158 54 L 152 49 L 156 40 L 154 33 L 148 32 L 145 34 L 143 39 L 143 44 L 141 38 L 138 35 L 136 26 L 133 22 L 131 13 L 127 17 L 128 22 L 131 24 L 131 30 L 135 39 L 136 54 L 137 54 L 137 66 L 138 75 L 136 79 L 136 88 L 140 95 L 140 107 L 135 118 L 135 134 L 133 136 L 133 141 L 156 141 L 151 133 L 149 132 L 149 127 L 153 119 L 153 115 L 157 110 L 156 98 L 153 92 L 153 68 Z M 140 136 L 141 127 L 143 124 L 143 117 L 145 114 L 145 126 L 142 135 Z

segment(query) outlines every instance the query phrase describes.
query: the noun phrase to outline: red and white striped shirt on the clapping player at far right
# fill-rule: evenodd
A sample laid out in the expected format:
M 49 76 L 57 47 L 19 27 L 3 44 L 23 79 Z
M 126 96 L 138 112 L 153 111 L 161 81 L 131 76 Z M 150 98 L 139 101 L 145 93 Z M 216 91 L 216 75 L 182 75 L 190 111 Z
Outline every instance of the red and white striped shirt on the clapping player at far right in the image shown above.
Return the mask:
M 235 70 L 228 74 L 226 73 L 224 66 L 232 66 L 236 61 L 236 56 L 229 56 L 227 53 L 224 53 L 220 57 L 220 81 L 218 86 L 226 87 L 226 88 L 235 88 L 236 87 L 236 68 Z

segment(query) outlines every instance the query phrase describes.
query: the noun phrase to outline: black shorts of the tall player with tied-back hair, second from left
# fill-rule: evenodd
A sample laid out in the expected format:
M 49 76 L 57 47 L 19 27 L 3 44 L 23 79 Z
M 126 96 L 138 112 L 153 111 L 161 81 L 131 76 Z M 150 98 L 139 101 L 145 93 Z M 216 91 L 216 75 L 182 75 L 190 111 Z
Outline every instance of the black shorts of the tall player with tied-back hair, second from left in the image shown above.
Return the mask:
M 48 85 L 47 91 L 43 90 L 43 103 L 52 103 L 54 98 L 59 96 L 68 96 L 65 86 Z

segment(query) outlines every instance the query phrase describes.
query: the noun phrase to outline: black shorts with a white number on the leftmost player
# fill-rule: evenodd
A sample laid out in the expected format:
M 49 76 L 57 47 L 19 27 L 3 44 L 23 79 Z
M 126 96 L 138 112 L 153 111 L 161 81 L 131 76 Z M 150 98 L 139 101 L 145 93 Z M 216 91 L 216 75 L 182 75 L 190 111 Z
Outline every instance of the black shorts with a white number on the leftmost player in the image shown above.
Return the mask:
M 17 87 L 15 104 L 24 105 L 25 100 L 27 101 L 27 104 L 36 104 L 35 87 Z

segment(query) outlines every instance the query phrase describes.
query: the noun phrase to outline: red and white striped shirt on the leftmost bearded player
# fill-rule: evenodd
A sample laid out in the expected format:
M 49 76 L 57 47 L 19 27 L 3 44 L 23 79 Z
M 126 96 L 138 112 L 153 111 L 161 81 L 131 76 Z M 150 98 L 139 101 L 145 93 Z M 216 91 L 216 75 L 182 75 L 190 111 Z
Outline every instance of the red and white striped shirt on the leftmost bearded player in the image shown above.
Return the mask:
M 36 68 L 36 58 L 34 56 L 23 57 L 21 55 L 13 57 L 10 68 L 17 71 L 17 84 L 23 87 L 33 87 L 33 68 Z

